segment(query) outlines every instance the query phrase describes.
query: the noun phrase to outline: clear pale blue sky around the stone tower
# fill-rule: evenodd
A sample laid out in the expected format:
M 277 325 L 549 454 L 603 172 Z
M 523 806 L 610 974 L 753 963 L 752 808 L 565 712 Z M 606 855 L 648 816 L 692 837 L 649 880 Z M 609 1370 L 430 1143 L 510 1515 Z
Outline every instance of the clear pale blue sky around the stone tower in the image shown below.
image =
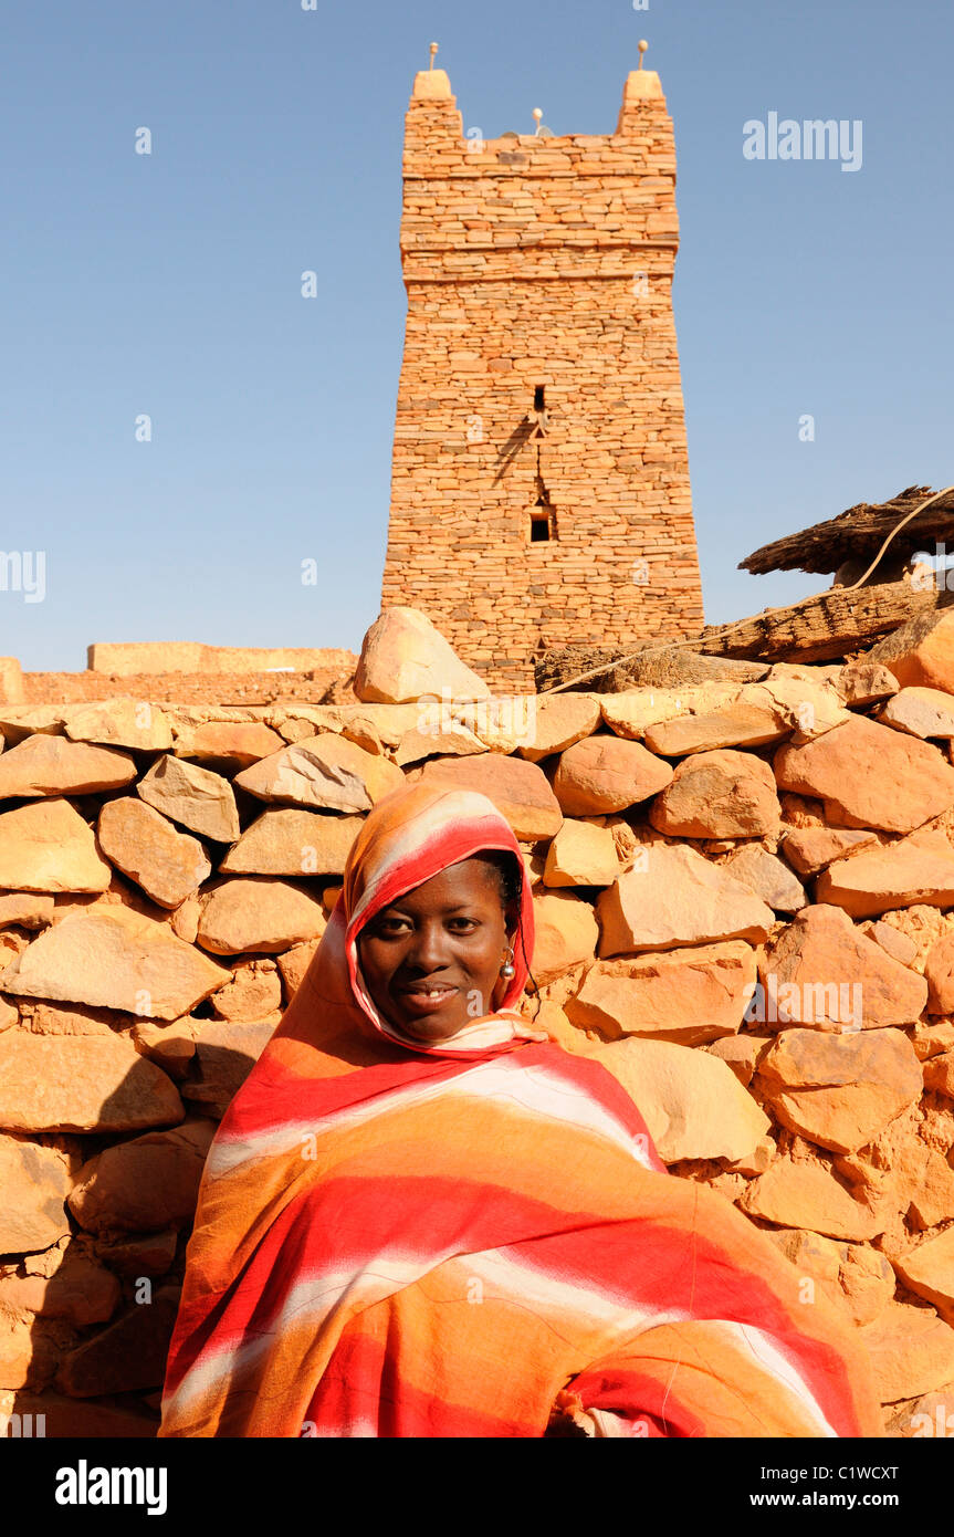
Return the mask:
M 538 105 L 555 134 L 611 132 L 650 41 L 708 622 L 828 584 L 737 572 L 756 546 L 954 481 L 948 0 L 46 0 L 5 34 L 0 546 L 46 552 L 46 596 L 0 592 L 0 655 L 28 670 L 83 669 L 89 641 L 359 646 L 432 38 L 485 137 Z M 747 160 L 773 111 L 860 118 L 862 168 Z

